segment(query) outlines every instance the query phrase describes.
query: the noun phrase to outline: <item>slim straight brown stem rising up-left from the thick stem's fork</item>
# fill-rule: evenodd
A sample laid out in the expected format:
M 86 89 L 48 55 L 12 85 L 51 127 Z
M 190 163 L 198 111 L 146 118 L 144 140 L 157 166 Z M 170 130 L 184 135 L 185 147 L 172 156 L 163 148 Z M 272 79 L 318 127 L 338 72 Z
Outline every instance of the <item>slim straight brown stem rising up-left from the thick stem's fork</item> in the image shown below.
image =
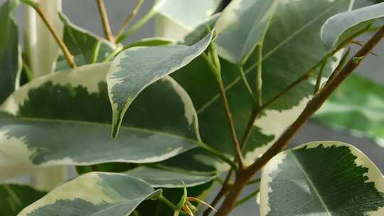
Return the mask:
M 238 141 L 238 135 L 236 134 L 235 124 L 233 123 L 232 114 L 230 113 L 230 107 L 228 104 L 227 95 L 225 94 L 225 88 L 224 88 L 223 80 L 221 80 L 221 79 L 218 80 L 218 87 L 220 90 L 220 97 L 223 101 L 225 114 L 226 114 L 227 119 L 228 119 L 228 124 L 230 126 L 230 134 L 232 135 L 233 147 L 235 148 L 235 153 L 236 153 L 236 158 L 237 158 L 237 161 L 239 164 L 239 169 L 241 170 L 244 168 L 244 163 L 243 163 L 244 159 L 242 158 L 242 152 L 241 152 L 241 148 L 240 148 L 240 143 Z

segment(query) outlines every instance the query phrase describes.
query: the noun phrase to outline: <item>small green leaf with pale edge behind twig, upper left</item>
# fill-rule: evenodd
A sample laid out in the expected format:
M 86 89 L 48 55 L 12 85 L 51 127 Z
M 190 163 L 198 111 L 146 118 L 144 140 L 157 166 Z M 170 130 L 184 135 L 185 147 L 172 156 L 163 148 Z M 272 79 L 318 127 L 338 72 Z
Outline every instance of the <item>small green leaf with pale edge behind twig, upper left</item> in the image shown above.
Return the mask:
M 101 63 L 114 51 L 112 43 L 75 26 L 64 13 L 60 13 L 60 19 L 64 25 L 63 41 L 70 53 L 74 55 L 78 66 Z M 70 68 L 63 56 L 60 56 L 57 64 L 56 70 Z

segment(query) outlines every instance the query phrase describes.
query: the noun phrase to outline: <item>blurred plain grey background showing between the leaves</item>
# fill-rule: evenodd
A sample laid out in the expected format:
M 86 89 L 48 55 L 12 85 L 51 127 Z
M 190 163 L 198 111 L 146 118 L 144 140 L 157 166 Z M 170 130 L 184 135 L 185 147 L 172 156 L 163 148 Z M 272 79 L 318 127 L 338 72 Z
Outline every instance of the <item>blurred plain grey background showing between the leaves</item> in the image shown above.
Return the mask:
M 192 1 L 192 0 L 191 0 Z M 365 4 L 368 0 L 356 0 L 358 4 Z M 0 0 L 0 4 L 3 4 L 4 0 Z M 110 18 L 110 24 L 112 30 L 116 32 L 122 25 L 129 11 L 131 11 L 136 1 L 134 0 L 105 0 L 107 6 L 107 12 Z M 148 11 L 154 4 L 154 0 L 145 0 L 135 20 L 144 15 L 145 11 Z M 186 9 L 191 10 L 191 9 Z M 21 9 L 18 11 L 18 21 L 22 25 Z M 100 23 L 99 13 L 97 12 L 97 6 L 94 0 L 63 0 L 63 12 L 70 18 L 70 21 L 75 25 L 85 28 L 92 33 L 104 36 L 102 31 L 102 24 Z M 1 31 L 1 30 L 0 30 Z M 155 21 L 151 20 L 143 28 L 134 33 L 125 43 L 136 41 L 140 38 L 148 38 L 155 35 Z M 359 38 L 359 41 L 366 41 L 369 36 L 363 36 Z M 22 41 L 22 38 L 21 38 Z M 356 51 L 357 47 L 354 47 Z M 374 51 L 378 54 L 378 57 L 370 55 L 364 60 L 361 68 L 358 69 L 358 73 L 366 77 L 370 77 L 376 82 L 384 84 L 384 43 L 378 45 Z M 383 92 L 384 95 L 384 92 Z M 384 110 L 383 110 L 384 115 Z M 357 148 L 361 149 L 363 153 L 372 159 L 372 161 L 384 172 L 384 148 L 377 146 L 369 139 L 358 139 L 356 137 L 348 136 L 346 134 L 336 133 L 325 126 L 319 126 L 314 122 L 309 122 L 304 129 L 302 129 L 292 141 L 291 146 L 303 144 L 309 141 L 343 141 L 349 144 L 353 144 Z M 255 187 L 255 185 L 253 186 Z M 256 188 L 248 188 L 247 193 L 251 193 Z M 213 193 L 212 195 L 215 195 Z M 247 195 L 245 193 L 245 195 Z M 251 199 L 245 205 L 238 207 L 232 215 L 255 215 L 258 212 L 255 205 L 256 200 Z

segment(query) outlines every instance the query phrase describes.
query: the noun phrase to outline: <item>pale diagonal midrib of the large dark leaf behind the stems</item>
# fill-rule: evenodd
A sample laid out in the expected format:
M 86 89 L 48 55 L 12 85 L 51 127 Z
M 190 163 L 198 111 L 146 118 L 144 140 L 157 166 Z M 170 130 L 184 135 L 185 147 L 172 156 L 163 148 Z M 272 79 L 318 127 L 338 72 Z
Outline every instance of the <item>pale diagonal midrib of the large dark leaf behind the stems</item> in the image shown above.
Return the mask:
M 319 20 L 319 18 L 321 18 L 322 16 L 324 16 L 324 14 L 328 13 L 329 11 L 331 11 L 332 9 L 334 9 L 336 6 L 338 6 L 339 4 L 341 4 L 341 2 L 343 1 L 346 1 L 346 0 L 341 0 L 339 1 L 337 4 L 334 4 L 334 6 L 331 6 L 329 9 L 326 9 L 323 13 L 320 13 L 319 16 L 316 16 L 316 18 L 314 18 L 313 20 L 309 21 L 308 23 L 306 23 L 304 26 L 302 26 L 302 28 L 299 28 L 297 31 L 295 31 L 292 36 L 289 36 L 288 38 L 286 38 L 284 41 L 282 41 L 282 43 L 279 43 L 278 45 L 276 45 L 272 50 L 270 50 L 270 52 L 268 52 L 266 55 L 264 55 L 262 57 L 262 61 L 264 61 L 265 59 L 269 58 L 270 55 L 272 55 L 274 52 L 276 52 L 277 50 L 279 50 L 279 48 L 282 48 L 283 45 L 285 45 L 286 43 L 288 43 L 289 41 L 292 40 L 292 38 L 294 38 L 295 36 L 297 36 L 299 33 L 302 33 L 302 31 L 304 31 L 306 28 L 309 28 L 309 26 L 311 26 L 311 24 L 313 24 L 314 22 L 316 22 L 317 20 Z M 250 68 L 248 68 L 247 70 L 245 70 L 245 75 L 248 75 L 251 70 L 253 70 L 255 67 L 257 66 L 257 63 L 253 64 L 250 66 Z M 240 81 L 240 77 L 237 77 L 235 80 L 233 80 L 233 82 L 230 82 L 230 84 L 227 85 L 227 87 L 225 87 L 225 92 L 227 92 L 228 90 L 230 90 L 234 85 L 236 85 L 238 82 Z M 210 107 L 211 104 L 213 104 L 217 99 L 220 98 L 220 95 L 219 94 L 216 94 L 215 96 L 213 96 L 210 100 L 208 100 L 208 102 L 206 102 L 205 104 L 203 104 L 201 106 L 200 109 L 197 109 L 197 114 L 201 114 L 201 112 L 204 112 L 204 110 L 206 110 L 208 107 Z

